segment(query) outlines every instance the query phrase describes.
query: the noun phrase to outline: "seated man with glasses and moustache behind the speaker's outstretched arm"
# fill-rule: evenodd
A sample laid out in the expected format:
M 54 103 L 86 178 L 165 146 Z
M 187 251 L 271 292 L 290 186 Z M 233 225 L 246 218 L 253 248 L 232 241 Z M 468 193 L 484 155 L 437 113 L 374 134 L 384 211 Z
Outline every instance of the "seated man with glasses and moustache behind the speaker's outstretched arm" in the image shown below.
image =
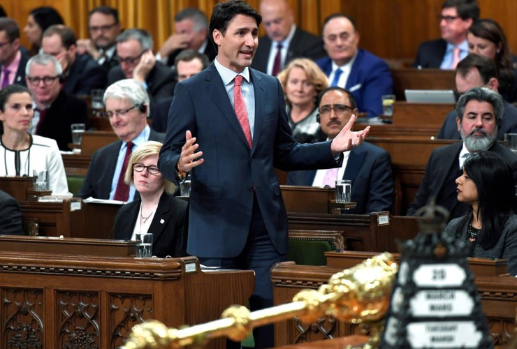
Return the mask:
M 356 101 L 341 87 L 328 87 L 319 94 L 319 122 L 321 131 L 333 140 L 349 121 L 357 115 Z M 287 184 L 293 186 L 335 187 L 336 179 L 352 182 L 351 201 L 356 208 L 347 214 L 369 214 L 391 211 L 393 206 L 393 172 L 387 151 L 368 142 L 344 152 L 341 168 L 290 172 Z

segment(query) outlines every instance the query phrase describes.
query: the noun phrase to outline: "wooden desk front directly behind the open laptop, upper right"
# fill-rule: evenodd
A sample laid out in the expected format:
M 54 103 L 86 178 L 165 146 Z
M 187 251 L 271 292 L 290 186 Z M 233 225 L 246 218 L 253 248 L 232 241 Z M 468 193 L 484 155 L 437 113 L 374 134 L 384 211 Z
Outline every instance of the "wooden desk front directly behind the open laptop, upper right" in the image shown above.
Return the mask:
M 407 89 L 451 89 L 456 90 L 454 70 L 441 69 L 391 69 L 393 90 L 397 101 L 405 101 Z

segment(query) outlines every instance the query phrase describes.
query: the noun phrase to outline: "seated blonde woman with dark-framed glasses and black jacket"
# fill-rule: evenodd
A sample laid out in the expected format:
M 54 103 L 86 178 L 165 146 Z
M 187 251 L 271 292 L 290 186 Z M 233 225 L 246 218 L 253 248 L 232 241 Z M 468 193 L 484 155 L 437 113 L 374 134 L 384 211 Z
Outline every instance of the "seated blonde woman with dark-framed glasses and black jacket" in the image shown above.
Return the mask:
M 187 255 L 182 242 L 187 202 L 175 198 L 176 186 L 158 168 L 160 142 L 146 142 L 129 158 L 124 181 L 135 186 L 140 198 L 122 206 L 115 217 L 115 239 L 136 239 L 153 234 L 152 254 L 159 258 Z

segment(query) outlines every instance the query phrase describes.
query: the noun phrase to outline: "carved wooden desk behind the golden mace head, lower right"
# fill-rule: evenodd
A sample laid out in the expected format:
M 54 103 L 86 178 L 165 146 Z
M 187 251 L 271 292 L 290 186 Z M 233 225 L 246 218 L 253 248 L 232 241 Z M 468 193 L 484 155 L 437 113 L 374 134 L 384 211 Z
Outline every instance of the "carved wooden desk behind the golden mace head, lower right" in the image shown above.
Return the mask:
M 312 267 L 293 262 L 278 263 L 272 268 L 273 299 L 275 305 L 292 302 L 296 293 L 304 288 L 317 289 L 333 274 L 352 267 L 373 253 L 328 252 L 327 265 Z M 504 261 L 506 262 L 506 261 Z M 470 258 L 483 312 L 488 318 L 490 334 L 495 346 L 508 343 L 514 334 L 517 306 L 517 279 L 501 276 L 504 262 Z M 322 318 L 312 325 L 304 325 L 296 318 L 275 324 L 275 346 L 302 341 L 317 341 L 338 336 L 361 334 L 361 327 L 345 322 Z

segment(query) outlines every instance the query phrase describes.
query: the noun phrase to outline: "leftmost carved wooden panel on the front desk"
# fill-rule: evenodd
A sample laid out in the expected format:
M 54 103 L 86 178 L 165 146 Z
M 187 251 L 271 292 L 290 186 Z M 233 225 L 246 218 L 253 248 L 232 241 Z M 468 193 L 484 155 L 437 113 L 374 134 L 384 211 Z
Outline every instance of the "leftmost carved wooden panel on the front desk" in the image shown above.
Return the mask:
M 1 348 L 43 348 L 43 290 L 3 288 Z

